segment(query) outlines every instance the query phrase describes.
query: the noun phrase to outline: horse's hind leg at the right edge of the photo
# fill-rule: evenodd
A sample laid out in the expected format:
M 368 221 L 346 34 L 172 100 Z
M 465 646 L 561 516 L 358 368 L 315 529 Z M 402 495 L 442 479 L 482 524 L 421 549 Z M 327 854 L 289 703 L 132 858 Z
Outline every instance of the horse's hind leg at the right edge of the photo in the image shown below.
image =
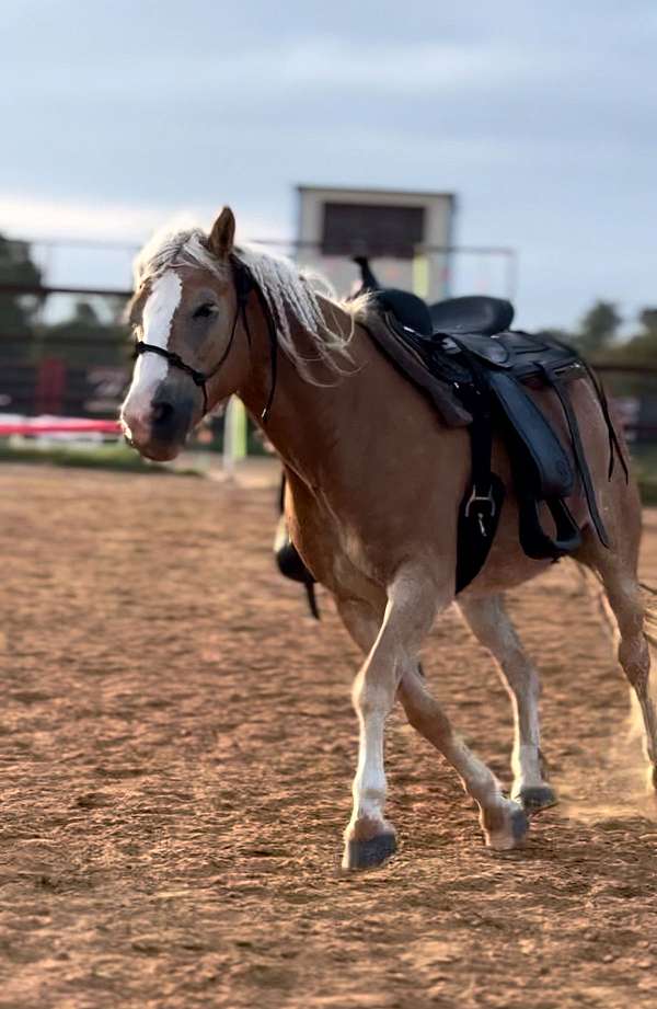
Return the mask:
M 590 567 L 604 588 L 607 600 L 615 618 L 618 657 L 636 696 L 645 730 L 645 749 L 650 761 L 650 779 L 657 787 L 657 714 L 650 697 L 650 647 L 644 624 L 646 606 L 636 574 L 636 546 L 638 537 L 626 548 L 606 550 L 592 536 L 588 536 L 577 560 Z M 613 629 L 613 624 L 612 624 Z

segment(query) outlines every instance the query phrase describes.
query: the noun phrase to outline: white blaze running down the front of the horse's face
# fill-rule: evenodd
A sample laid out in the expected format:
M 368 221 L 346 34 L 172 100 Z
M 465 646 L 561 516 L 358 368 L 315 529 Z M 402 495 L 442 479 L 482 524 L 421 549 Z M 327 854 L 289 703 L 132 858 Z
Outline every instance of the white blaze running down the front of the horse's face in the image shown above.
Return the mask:
M 173 270 L 168 270 L 153 280 L 141 316 L 141 339 L 155 347 L 166 349 L 171 324 L 181 303 L 183 284 Z M 123 415 L 128 425 L 148 422 L 155 389 L 166 378 L 169 363 L 159 354 L 140 354 L 135 363 L 132 382 L 126 397 Z

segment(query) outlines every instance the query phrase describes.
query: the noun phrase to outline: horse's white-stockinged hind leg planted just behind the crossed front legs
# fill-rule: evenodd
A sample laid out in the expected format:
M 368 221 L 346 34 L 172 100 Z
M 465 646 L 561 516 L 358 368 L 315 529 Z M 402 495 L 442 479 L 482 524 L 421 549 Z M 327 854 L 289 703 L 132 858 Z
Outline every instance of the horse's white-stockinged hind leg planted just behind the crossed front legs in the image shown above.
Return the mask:
M 539 725 L 539 674 L 522 650 L 516 629 L 506 611 L 504 597 L 459 599 L 473 634 L 496 660 L 514 709 L 514 750 L 511 795 L 526 810 L 535 812 L 554 805 L 553 790 L 543 780 Z

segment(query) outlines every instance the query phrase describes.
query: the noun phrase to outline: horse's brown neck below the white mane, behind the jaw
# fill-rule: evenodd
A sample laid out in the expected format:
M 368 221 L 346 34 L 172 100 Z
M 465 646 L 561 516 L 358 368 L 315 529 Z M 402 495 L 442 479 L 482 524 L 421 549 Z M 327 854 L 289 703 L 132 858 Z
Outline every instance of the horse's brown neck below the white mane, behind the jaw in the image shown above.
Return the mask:
M 343 309 L 327 306 L 332 328 L 348 335 L 351 319 Z M 313 336 L 297 320 L 290 320 L 292 335 L 300 354 L 309 362 L 309 371 L 322 385 L 301 376 L 289 357 L 279 349 L 276 390 L 269 416 L 263 427 L 265 436 L 277 452 L 309 485 L 324 483 L 326 466 L 341 466 L 346 448 L 346 435 L 353 425 L 354 403 L 359 399 L 362 370 L 368 352 L 367 337 L 356 328 L 351 353 L 354 360 L 341 358 L 341 375 L 318 360 Z M 272 362 L 264 320 L 257 325 L 252 348 L 252 367 L 240 395 L 257 421 L 267 401 L 272 382 Z M 356 388 L 358 387 L 358 388 Z

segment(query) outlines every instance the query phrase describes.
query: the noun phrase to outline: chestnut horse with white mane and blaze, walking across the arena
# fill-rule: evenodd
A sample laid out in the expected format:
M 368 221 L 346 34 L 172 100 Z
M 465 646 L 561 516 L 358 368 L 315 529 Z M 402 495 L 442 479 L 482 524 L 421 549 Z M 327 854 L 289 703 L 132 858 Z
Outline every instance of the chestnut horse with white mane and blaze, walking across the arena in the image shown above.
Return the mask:
M 125 437 L 146 458 L 173 459 L 205 413 L 237 394 L 283 460 L 292 542 L 364 655 L 353 687 L 359 744 L 344 868 L 376 867 L 396 849 L 383 759 L 396 699 L 476 803 L 486 846 L 514 849 L 526 837 L 529 814 L 556 796 L 541 760 L 539 675 L 503 595 L 551 561 L 528 557 L 519 543 L 507 444 L 494 431 L 494 469 L 507 494 L 485 564 L 457 597 L 457 521 L 472 470 L 468 431 L 441 423 L 376 346 L 367 328 L 369 296 L 338 301 L 289 261 L 235 244 L 234 234 L 234 216 L 224 207 L 209 232 L 163 233 L 139 254 L 130 307 L 136 364 L 120 412 Z M 554 393 L 540 395 L 555 427 L 563 427 Z M 654 787 L 657 719 L 636 572 L 639 496 L 620 467 L 608 473 L 608 427 L 591 380 L 574 383 L 572 405 L 609 541 L 600 542 L 576 486 L 568 501 L 581 530 L 574 558 L 597 576 L 613 614 Z M 510 696 L 509 795 L 459 737 L 419 664 L 429 630 L 453 601 Z

